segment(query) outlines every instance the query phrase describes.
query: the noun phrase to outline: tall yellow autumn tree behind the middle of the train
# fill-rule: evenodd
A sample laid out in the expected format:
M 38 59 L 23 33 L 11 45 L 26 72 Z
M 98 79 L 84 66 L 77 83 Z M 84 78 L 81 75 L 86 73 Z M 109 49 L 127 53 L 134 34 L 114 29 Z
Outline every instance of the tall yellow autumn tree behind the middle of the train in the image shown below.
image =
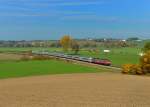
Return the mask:
M 64 51 L 68 51 L 71 47 L 71 37 L 69 35 L 65 35 L 60 39 L 60 44 L 63 47 Z

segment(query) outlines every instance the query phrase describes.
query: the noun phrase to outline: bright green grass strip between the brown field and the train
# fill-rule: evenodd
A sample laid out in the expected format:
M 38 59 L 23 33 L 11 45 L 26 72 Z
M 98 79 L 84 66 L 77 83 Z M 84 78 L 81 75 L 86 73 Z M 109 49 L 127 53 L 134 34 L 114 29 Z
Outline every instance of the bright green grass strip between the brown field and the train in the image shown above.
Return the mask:
M 21 61 L 0 62 L 0 79 L 47 74 L 95 73 L 106 69 L 97 69 L 64 61 Z

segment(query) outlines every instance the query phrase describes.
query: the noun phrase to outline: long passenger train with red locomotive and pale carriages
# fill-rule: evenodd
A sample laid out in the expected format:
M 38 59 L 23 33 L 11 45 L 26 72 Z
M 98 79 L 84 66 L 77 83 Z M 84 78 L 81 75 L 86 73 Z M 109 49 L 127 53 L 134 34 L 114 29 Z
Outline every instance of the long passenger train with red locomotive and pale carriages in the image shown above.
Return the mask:
M 33 51 L 32 53 L 36 54 L 36 55 L 48 55 L 48 56 L 53 56 L 53 57 L 57 57 L 57 58 L 64 58 L 66 60 L 67 59 L 68 60 L 77 60 L 77 61 L 88 62 L 88 63 L 104 65 L 104 66 L 112 65 L 112 62 L 108 59 L 82 57 L 82 56 L 77 56 L 77 55 L 68 55 L 68 54 L 64 54 L 64 53 L 46 52 L 46 51 Z

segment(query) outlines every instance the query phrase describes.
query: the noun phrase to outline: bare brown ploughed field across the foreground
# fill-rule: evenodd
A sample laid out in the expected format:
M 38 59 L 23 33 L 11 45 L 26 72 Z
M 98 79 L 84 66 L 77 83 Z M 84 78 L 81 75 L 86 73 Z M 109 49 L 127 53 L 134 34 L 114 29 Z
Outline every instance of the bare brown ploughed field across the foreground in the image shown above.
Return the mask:
M 0 107 L 150 107 L 150 77 L 100 73 L 0 80 Z

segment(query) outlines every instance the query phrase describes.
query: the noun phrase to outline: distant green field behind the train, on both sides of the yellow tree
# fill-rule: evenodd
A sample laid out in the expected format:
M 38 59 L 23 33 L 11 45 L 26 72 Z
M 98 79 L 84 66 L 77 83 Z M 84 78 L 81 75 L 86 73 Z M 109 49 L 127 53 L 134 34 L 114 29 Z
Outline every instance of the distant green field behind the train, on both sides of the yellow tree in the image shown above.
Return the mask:
M 111 52 L 109 54 L 105 54 L 103 52 L 104 49 L 105 48 L 99 48 L 99 53 L 89 52 L 82 49 L 80 50 L 79 55 L 109 59 L 112 61 L 113 66 L 119 67 L 123 64 L 137 64 L 139 62 L 140 56 L 138 54 L 141 52 L 141 47 L 111 48 Z M 29 50 L 49 50 L 52 52 L 62 52 L 61 48 L 0 48 L 0 52 L 21 52 Z M 72 54 L 72 52 L 69 52 L 69 54 Z

